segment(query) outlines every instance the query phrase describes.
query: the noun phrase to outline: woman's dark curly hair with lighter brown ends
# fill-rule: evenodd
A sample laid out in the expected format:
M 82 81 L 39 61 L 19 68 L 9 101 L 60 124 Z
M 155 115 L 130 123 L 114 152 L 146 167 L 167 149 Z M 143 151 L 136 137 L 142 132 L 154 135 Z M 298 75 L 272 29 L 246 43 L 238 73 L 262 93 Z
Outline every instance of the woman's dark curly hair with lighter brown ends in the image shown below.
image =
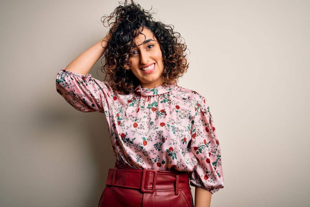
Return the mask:
M 100 70 L 104 70 L 106 74 L 104 81 L 119 94 L 129 94 L 139 84 L 139 79 L 128 69 L 131 65 L 130 50 L 135 47 L 134 39 L 140 34 L 140 27 L 150 29 L 160 44 L 164 83 L 176 83 L 187 72 L 187 47 L 185 43 L 181 43 L 180 33 L 174 32 L 173 25 L 171 27 L 155 21 L 149 11 L 141 9 L 132 0 L 130 4 L 125 0 L 124 6 L 116 7 L 109 16 L 103 16 L 104 20 L 101 20 L 103 25 L 108 22 L 108 26 L 113 26 L 109 29 L 111 38 L 104 48 L 105 64 Z M 115 20 L 109 23 L 114 17 Z

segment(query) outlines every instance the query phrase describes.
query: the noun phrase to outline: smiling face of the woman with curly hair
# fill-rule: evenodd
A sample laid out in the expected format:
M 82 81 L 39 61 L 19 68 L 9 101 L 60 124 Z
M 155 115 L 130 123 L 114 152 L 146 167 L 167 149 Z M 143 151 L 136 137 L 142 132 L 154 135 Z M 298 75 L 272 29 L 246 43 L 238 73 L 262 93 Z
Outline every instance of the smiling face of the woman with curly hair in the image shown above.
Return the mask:
M 155 35 L 144 27 L 134 41 L 135 47 L 131 49 L 129 58 L 131 71 L 139 79 L 142 88 L 154 88 L 161 85 L 164 65 L 162 51 L 159 43 L 156 42 Z

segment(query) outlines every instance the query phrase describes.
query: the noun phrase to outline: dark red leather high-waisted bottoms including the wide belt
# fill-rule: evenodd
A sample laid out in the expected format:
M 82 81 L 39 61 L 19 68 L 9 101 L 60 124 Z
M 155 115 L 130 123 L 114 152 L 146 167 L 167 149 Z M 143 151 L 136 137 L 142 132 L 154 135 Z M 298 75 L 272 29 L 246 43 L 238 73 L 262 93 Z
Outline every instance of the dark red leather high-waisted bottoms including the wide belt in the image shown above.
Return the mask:
M 194 207 L 186 171 L 135 169 L 116 160 L 99 207 Z

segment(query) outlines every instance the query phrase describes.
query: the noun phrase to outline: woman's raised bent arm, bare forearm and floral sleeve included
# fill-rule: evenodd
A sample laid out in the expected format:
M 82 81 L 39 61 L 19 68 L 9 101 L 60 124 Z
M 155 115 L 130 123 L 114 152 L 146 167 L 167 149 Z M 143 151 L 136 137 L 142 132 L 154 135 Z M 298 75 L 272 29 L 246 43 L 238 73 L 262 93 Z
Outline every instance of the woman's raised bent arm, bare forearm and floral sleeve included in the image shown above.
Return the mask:
M 115 98 L 112 88 L 88 74 L 103 55 L 110 39 L 108 33 L 56 75 L 57 92 L 76 110 L 108 114 L 108 102 Z

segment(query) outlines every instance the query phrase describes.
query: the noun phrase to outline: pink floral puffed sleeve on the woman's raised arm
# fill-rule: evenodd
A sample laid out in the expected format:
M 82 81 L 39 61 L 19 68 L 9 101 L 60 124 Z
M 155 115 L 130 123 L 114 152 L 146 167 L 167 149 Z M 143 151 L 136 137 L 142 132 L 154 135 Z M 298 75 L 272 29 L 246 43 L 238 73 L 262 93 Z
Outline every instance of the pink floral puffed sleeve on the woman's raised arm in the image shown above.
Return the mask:
M 78 111 L 107 113 L 107 103 L 113 98 L 112 88 L 91 76 L 65 68 L 56 75 L 56 91 Z M 112 96 L 112 97 L 110 97 Z

